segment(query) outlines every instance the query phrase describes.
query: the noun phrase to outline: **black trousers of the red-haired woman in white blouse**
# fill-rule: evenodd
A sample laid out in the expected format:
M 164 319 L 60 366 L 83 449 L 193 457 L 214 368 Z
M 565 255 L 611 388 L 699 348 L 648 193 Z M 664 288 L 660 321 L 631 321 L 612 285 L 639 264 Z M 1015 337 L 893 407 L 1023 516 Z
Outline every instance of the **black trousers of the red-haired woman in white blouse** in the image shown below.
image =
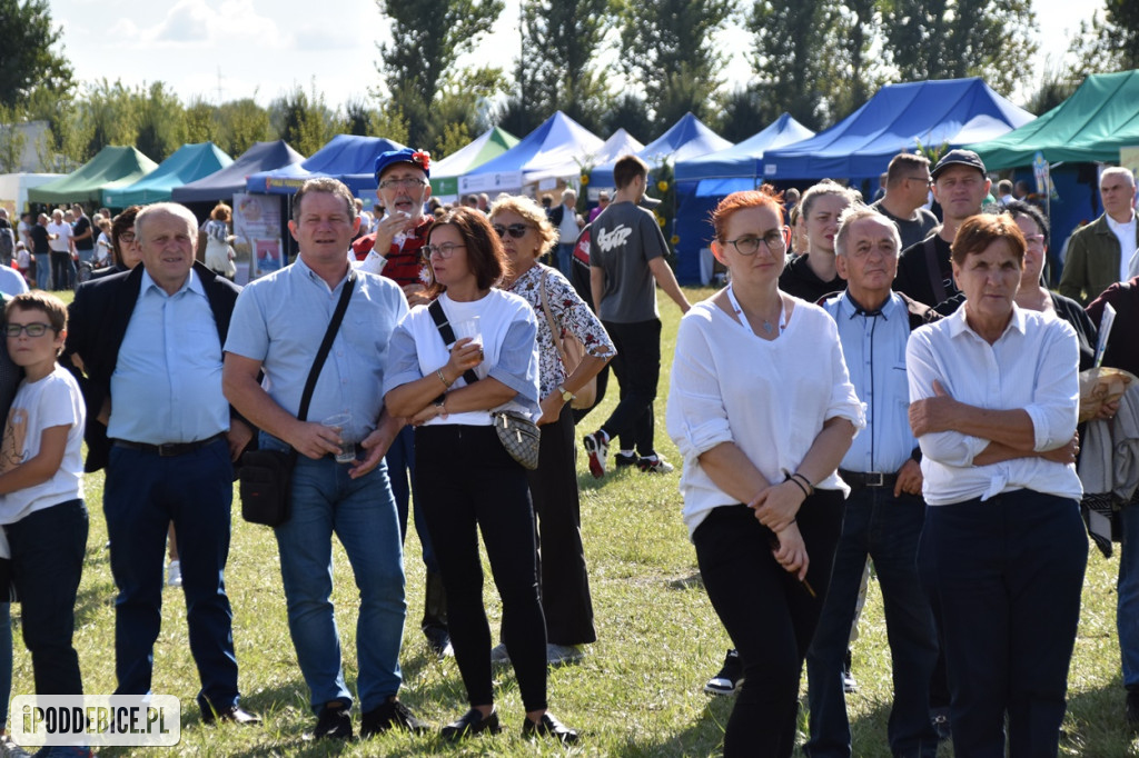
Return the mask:
M 723 738 L 726 758 L 787 758 L 795 748 L 798 683 L 842 534 L 842 493 L 816 491 L 796 521 L 813 596 L 776 561 L 775 535 L 746 505 L 714 509 L 693 534 L 708 600 L 744 665 Z

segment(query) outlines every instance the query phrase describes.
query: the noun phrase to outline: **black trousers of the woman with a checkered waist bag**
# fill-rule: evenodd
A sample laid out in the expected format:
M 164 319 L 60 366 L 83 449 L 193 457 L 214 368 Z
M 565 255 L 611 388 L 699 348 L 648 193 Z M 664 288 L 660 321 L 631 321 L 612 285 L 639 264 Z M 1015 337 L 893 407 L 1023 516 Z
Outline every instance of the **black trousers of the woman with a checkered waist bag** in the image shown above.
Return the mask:
M 483 607 L 482 532 L 502 599 L 502 634 L 527 711 L 546 708 L 546 619 L 526 470 L 493 427 L 416 429 L 416 486 L 448 599 L 454 660 L 472 706 L 494 701 L 491 629 Z

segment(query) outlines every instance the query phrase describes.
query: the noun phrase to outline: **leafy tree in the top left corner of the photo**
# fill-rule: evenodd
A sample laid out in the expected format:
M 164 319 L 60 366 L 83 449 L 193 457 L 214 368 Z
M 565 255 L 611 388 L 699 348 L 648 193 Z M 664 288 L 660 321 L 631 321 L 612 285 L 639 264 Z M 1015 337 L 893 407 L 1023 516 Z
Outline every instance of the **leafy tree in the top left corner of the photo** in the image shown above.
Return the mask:
M 0 0 L 0 104 L 24 102 L 35 90 L 57 96 L 74 89 L 71 63 L 56 49 L 63 30 L 48 0 Z

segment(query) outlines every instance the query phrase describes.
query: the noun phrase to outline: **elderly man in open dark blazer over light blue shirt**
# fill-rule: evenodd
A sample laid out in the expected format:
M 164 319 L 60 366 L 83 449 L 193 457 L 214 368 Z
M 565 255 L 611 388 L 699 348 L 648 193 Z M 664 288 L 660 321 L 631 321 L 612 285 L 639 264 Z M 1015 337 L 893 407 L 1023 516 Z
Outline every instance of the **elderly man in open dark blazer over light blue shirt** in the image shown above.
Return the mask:
M 117 693 L 151 689 L 172 521 L 202 719 L 256 724 L 238 705 L 223 578 L 232 461 L 253 435 L 221 390 L 221 348 L 240 290 L 194 263 L 197 221 L 186 207 L 151 205 L 134 229 L 142 265 L 80 287 L 63 359 L 82 368 L 85 468 L 107 469 Z

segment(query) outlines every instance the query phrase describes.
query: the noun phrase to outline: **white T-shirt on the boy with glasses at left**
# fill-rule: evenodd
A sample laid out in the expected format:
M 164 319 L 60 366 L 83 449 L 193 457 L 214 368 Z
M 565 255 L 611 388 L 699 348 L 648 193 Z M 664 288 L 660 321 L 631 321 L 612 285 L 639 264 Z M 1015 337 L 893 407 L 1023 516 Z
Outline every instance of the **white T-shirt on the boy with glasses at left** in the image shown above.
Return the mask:
M 57 365 L 39 381 L 19 382 L 0 443 L 0 472 L 35 458 L 44 429 L 69 427 L 67 447 L 59 470 L 50 479 L 0 496 L 0 524 L 15 524 L 28 513 L 83 496 L 81 447 L 85 421 L 83 395 L 63 366 Z

